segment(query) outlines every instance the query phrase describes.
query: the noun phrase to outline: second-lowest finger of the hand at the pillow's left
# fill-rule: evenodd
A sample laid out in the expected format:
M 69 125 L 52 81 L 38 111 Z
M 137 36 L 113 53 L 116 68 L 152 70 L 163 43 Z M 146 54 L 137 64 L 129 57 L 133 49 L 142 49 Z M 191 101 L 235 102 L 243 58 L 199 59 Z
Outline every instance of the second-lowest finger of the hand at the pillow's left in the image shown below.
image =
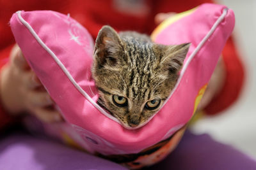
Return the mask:
M 27 97 L 28 106 L 45 107 L 54 104 L 47 92 L 38 92 L 35 90 L 31 90 L 28 92 Z

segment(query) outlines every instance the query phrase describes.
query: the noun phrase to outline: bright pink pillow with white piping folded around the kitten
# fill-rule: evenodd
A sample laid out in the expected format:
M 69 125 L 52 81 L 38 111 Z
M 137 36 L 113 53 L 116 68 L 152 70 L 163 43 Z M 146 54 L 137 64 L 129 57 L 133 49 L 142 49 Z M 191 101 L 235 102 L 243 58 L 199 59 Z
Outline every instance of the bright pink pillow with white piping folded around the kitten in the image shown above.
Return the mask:
M 140 166 L 132 166 L 141 167 L 163 159 L 177 145 L 234 28 L 234 13 L 225 6 L 203 4 L 157 27 L 152 34 L 157 43 L 191 46 L 169 99 L 138 129 L 125 129 L 96 103 L 99 95 L 90 69 L 94 43 L 83 26 L 54 11 L 17 11 L 10 25 L 26 60 L 67 121 L 44 125 L 45 131 L 103 157 L 138 153 L 168 139 L 161 152 L 139 157 Z

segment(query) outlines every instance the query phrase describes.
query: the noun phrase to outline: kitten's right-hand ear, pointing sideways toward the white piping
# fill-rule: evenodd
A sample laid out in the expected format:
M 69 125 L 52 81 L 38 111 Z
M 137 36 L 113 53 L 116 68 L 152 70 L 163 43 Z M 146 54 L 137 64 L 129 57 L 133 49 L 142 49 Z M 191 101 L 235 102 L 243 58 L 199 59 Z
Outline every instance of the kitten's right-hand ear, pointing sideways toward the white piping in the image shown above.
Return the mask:
M 170 73 L 178 73 L 183 65 L 190 45 L 191 43 L 184 43 L 181 45 L 167 46 L 161 64 L 163 64 Z

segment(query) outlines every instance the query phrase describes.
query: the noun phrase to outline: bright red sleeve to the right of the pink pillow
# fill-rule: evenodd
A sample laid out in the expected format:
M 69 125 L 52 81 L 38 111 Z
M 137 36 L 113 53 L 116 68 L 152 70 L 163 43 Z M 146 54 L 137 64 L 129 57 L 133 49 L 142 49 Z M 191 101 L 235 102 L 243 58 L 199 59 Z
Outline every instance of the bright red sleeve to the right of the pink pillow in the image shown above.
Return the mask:
M 204 113 L 207 115 L 216 115 L 232 106 L 243 90 L 245 69 L 232 37 L 228 39 L 223 49 L 222 60 L 225 78 L 221 88 L 204 108 Z

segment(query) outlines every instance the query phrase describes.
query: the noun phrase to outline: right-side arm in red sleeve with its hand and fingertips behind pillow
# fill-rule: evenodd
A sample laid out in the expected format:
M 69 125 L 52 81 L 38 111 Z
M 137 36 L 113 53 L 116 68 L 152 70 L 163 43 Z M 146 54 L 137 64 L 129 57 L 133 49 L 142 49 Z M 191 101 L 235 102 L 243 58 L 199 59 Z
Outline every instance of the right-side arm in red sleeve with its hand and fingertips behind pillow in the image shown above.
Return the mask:
M 172 15 L 175 15 L 175 13 L 158 13 L 155 17 L 155 22 L 159 24 L 166 18 L 172 17 Z M 243 63 L 239 59 L 232 37 L 230 37 L 214 69 L 197 111 L 203 111 L 202 113 L 206 115 L 216 115 L 227 109 L 238 99 L 243 84 Z

